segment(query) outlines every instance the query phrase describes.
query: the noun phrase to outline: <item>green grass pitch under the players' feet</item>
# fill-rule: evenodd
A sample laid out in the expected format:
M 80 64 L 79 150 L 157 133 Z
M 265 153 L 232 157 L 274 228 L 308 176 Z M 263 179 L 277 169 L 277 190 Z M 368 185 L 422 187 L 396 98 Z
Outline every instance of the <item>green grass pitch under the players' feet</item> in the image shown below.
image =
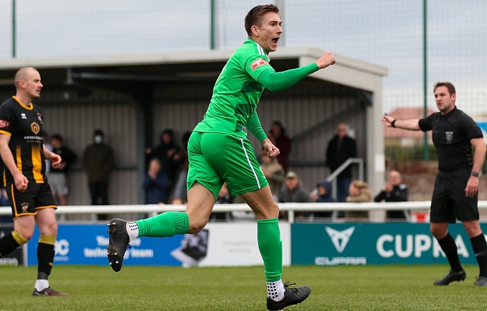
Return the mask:
M 487 288 L 474 287 L 477 266 L 465 266 L 467 280 L 435 287 L 449 267 L 291 266 L 283 280 L 310 285 L 298 310 L 487 310 Z M 262 266 L 179 268 L 56 266 L 49 278 L 69 297 L 32 297 L 35 267 L 0 267 L 0 310 L 266 310 Z

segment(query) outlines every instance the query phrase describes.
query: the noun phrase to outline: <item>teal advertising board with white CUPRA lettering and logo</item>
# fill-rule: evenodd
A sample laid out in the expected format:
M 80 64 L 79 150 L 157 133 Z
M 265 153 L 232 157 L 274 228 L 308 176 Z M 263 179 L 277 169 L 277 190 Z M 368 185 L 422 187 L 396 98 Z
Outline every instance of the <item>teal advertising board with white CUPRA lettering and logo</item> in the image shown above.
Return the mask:
M 487 224 L 481 224 L 484 232 Z M 463 264 L 476 264 L 461 223 L 449 225 Z M 429 223 L 293 223 L 291 264 L 447 263 Z

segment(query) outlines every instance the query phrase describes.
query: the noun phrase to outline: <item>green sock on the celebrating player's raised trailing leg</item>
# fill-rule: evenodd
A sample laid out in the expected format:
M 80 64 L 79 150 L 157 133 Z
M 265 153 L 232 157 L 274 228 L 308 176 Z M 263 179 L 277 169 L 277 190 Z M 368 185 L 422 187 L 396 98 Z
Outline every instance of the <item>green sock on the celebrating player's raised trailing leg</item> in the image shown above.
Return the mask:
M 174 234 L 186 234 L 189 230 L 188 214 L 184 212 L 164 212 L 135 223 L 138 237 L 173 237 Z

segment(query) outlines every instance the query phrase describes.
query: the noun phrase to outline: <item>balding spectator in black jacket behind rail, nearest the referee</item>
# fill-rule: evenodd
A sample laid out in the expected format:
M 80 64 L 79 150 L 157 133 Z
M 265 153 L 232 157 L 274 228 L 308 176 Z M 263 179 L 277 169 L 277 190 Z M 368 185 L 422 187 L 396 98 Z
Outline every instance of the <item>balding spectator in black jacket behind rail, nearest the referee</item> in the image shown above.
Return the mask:
M 375 202 L 404 202 L 408 200 L 408 186 L 402 183 L 401 174 L 397 170 L 391 170 L 389 181 L 385 183 L 384 190 L 378 193 Z M 404 211 L 386 211 L 388 219 L 408 219 L 409 212 Z

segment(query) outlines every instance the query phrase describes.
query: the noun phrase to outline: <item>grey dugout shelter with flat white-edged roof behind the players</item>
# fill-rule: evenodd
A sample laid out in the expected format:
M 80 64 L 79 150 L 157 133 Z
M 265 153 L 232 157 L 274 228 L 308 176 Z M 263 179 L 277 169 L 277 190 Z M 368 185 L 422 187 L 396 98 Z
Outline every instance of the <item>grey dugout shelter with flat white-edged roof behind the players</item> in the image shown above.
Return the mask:
M 233 50 L 160 54 L 12 58 L 0 60 L 0 100 L 15 95 L 13 77 L 19 67 L 33 66 L 44 88 L 35 100 L 45 115 L 48 134 L 61 134 L 79 161 L 69 175 L 69 205 L 89 205 L 90 195 L 81 157 L 102 129 L 115 150 L 111 175 L 111 204 L 143 204 L 145 148 L 159 144 L 159 134 L 173 129 L 181 145 L 184 131 L 202 119 L 214 82 Z M 271 53 L 276 71 L 307 65 L 323 51 L 310 47 L 281 47 Z M 365 180 L 374 191 L 384 181 L 381 125 L 384 67 L 335 55 L 336 63 L 319 70 L 292 88 L 265 90 L 258 106 L 262 127 L 280 120 L 292 138 L 289 169 L 311 191 L 329 175 L 325 152 L 338 122 L 364 159 Z M 257 156 L 260 144 L 249 134 Z

